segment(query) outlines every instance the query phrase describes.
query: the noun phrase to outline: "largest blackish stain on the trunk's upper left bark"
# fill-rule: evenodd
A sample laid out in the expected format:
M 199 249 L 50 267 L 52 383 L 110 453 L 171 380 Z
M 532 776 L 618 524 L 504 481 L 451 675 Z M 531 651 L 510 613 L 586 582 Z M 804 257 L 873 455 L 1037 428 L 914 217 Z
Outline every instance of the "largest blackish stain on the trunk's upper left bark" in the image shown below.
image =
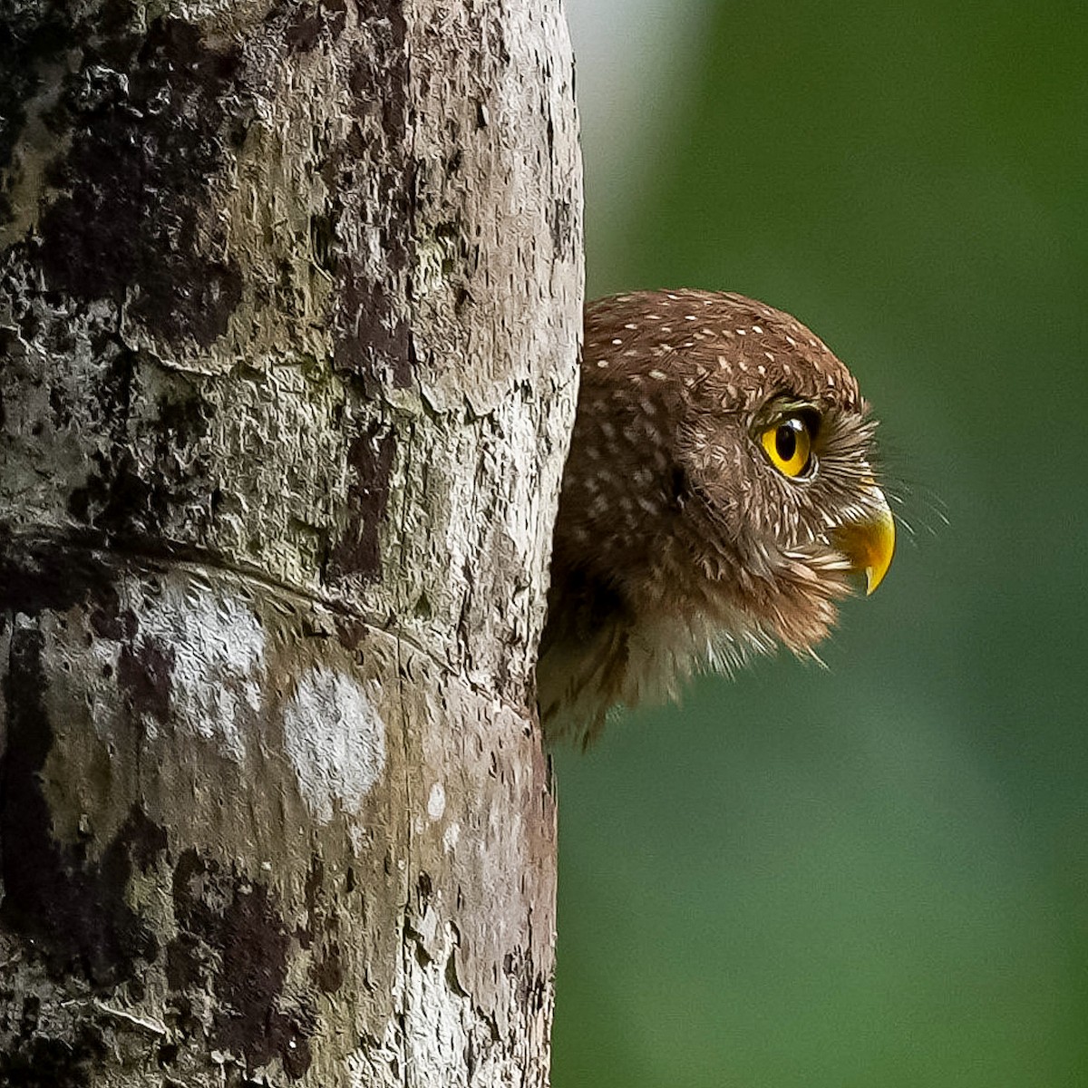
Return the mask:
M 72 144 L 50 182 L 66 195 L 41 219 L 42 268 L 55 290 L 127 297 L 152 333 L 208 346 L 242 297 L 237 265 L 208 258 L 200 236 L 236 121 L 227 111 L 242 109 L 240 55 L 209 49 L 180 20 L 137 37 L 126 4 L 107 8 L 114 25 L 79 41 L 83 66 L 62 96 Z

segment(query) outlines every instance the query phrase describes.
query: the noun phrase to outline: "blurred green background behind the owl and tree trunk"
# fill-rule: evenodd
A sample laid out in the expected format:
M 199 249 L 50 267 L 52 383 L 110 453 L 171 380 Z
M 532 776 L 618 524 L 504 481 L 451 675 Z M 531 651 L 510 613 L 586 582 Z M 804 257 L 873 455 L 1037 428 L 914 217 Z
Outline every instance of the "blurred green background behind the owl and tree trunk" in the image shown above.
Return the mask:
M 1088 8 L 567 8 L 590 295 L 796 313 L 915 536 L 557 755 L 554 1086 L 1088 1086 Z

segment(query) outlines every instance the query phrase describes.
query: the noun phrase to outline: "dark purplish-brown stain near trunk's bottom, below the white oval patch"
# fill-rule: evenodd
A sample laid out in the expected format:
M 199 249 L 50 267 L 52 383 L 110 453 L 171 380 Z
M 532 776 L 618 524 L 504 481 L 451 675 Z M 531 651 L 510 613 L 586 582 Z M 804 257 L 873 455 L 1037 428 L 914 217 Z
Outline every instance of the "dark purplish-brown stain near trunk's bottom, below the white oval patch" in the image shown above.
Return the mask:
M 213 1042 L 255 1066 L 279 1058 L 297 1079 L 310 1066 L 312 1013 L 282 1007 L 290 935 L 263 885 L 187 850 L 173 881 L 178 936 L 166 949 L 172 988 L 218 998 Z

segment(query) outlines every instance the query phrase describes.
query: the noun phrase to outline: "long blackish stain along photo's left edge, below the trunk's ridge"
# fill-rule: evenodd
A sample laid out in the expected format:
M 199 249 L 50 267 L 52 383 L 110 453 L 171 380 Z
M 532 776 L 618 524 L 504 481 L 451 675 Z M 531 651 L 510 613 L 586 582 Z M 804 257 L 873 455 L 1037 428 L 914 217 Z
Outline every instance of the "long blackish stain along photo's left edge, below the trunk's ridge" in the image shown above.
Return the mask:
M 0 761 L 0 925 L 21 938 L 54 977 L 77 974 L 98 988 L 132 978 L 137 961 L 153 961 L 153 934 L 125 902 L 136 869 L 146 871 L 166 848 L 163 828 L 133 806 L 98 862 L 52 838 L 41 771 L 53 743 L 44 695 L 39 631 L 12 632 L 4 681 L 8 744 Z

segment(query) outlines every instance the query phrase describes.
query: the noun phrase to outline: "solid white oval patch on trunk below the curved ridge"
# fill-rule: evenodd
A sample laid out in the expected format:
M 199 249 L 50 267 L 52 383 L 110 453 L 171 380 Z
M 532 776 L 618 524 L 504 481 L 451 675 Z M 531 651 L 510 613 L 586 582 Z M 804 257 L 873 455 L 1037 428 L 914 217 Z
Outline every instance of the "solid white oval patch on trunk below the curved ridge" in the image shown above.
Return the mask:
M 304 672 L 283 708 L 284 747 L 310 812 L 356 812 L 385 769 L 385 722 L 358 681 L 323 665 Z

